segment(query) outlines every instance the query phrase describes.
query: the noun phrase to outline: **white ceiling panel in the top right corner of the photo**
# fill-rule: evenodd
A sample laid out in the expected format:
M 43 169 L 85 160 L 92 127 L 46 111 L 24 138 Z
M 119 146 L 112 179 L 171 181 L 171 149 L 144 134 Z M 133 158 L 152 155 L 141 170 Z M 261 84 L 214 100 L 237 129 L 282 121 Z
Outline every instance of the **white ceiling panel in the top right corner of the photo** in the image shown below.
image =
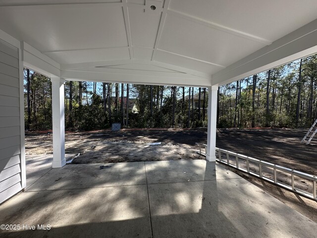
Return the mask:
M 171 0 L 169 9 L 271 42 L 317 17 L 316 0 Z

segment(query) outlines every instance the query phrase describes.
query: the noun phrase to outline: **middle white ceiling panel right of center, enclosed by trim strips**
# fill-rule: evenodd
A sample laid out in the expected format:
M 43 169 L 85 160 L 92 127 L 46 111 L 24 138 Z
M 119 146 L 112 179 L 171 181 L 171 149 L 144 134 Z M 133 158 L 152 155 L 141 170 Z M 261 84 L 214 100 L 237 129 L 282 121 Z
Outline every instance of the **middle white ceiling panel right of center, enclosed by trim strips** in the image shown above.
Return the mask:
M 167 14 L 159 50 L 227 66 L 265 45 Z

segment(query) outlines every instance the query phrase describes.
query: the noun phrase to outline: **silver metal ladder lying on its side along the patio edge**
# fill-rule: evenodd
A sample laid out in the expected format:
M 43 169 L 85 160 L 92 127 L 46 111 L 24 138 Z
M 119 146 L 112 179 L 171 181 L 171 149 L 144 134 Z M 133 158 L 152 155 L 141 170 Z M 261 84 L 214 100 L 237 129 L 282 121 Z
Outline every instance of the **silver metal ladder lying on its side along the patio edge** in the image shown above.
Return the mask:
M 197 153 L 200 155 L 206 156 L 207 145 L 201 144 L 201 143 L 196 143 L 196 145 L 199 146 L 199 151 L 197 151 Z M 205 148 L 205 154 L 202 153 L 202 148 Z M 294 191 L 305 197 L 308 197 L 317 201 L 317 197 L 316 197 L 317 177 L 316 176 L 306 174 L 300 171 L 292 170 L 289 168 L 285 168 L 279 165 L 274 165 L 272 163 L 258 160 L 249 156 L 237 154 L 228 150 L 216 148 L 216 152 L 217 152 L 216 161 L 219 163 L 226 164 L 227 166 L 243 171 L 255 177 L 264 179 L 268 182 L 274 183 L 278 186 L 281 186 L 283 188 Z M 242 164 L 244 163 L 245 163 L 245 166 L 243 167 Z M 270 172 L 272 173 L 270 174 Z M 280 173 L 282 175 L 280 176 L 282 177 L 282 179 L 277 176 L 277 173 Z M 289 184 L 287 184 L 287 179 L 286 179 L 287 175 L 290 176 Z M 313 185 L 313 188 L 309 187 L 308 188 L 309 191 L 304 191 L 298 188 L 298 184 L 305 181 L 299 181 L 297 177 L 300 179 L 305 179 L 312 182 L 311 184 Z

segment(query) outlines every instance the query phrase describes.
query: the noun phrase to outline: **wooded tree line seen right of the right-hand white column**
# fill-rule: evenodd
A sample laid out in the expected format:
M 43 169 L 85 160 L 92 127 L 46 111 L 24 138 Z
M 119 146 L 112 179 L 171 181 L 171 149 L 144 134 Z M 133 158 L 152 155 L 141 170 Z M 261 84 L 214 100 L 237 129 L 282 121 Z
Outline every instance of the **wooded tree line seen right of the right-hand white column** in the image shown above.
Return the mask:
M 316 55 L 221 86 L 218 127 L 310 127 L 316 89 Z

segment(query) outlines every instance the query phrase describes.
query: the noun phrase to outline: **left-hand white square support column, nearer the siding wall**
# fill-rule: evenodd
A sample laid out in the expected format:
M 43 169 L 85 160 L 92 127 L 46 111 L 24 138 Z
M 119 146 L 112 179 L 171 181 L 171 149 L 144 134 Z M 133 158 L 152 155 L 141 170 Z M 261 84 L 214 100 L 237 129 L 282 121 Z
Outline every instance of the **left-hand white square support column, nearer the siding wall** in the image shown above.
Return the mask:
M 53 113 L 53 168 L 61 168 L 65 159 L 64 82 L 62 78 L 51 77 Z

